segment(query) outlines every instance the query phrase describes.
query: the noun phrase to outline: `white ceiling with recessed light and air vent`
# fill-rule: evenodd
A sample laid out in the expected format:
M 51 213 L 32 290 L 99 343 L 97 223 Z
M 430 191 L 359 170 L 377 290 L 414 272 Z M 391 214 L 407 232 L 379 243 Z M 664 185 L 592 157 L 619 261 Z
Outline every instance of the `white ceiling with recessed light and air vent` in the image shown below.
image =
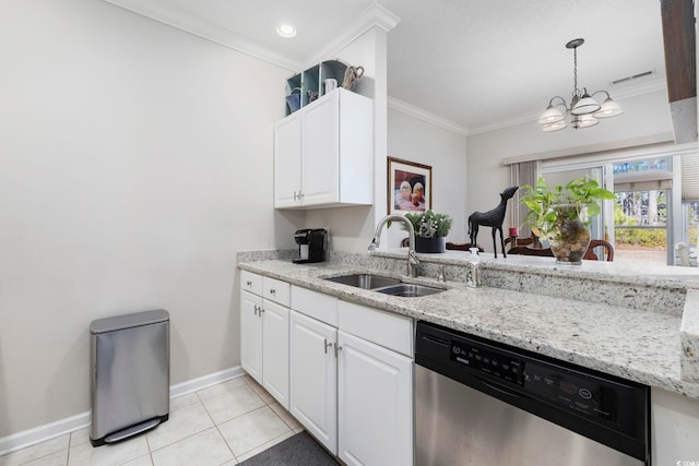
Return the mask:
M 348 37 L 372 0 L 107 0 L 298 71 Z M 578 86 L 619 100 L 665 88 L 660 0 L 380 0 L 400 19 L 388 33 L 388 93 L 469 133 L 535 120 Z M 374 9 L 372 9 L 374 8 Z M 296 26 L 295 38 L 275 33 Z M 362 64 L 362 63 L 354 63 Z M 613 81 L 653 74 L 619 84 Z M 282 84 L 280 84 L 282 85 Z M 393 100 L 393 101 L 394 101 Z M 621 105 L 624 103 L 621 101 Z

